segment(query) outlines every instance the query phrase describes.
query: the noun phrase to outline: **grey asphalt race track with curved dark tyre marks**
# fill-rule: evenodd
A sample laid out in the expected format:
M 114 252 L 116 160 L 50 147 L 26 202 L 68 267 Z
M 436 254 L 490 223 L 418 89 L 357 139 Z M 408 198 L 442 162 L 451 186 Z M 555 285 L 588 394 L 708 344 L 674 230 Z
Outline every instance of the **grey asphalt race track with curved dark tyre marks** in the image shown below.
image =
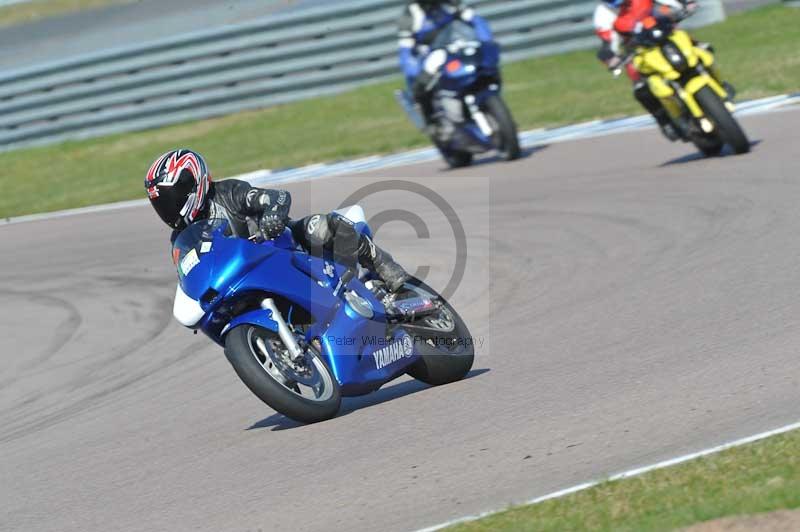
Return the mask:
M 149 208 L 0 227 L 0 529 L 409 530 L 797 421 L 800 111 L 744 124 L 739 157 L 648 130 L 381 173 L 459 214 L 453 301 L 485 342 L 465 381 L 401 379 L 312 426 L 172 320 Z M 288 188 L 300 215 L 371 181 Z M 368 212 L 435 220 L 384 194 Z M 429 225 L 378 240 L 441 286 Z

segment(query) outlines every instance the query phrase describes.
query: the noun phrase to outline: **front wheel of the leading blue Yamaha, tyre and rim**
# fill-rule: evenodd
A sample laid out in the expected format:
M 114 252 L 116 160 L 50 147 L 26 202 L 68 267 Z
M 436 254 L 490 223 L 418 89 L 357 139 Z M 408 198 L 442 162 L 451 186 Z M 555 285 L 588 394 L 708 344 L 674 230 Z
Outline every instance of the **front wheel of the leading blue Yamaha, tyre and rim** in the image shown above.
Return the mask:
M 250 391 L 277 412 L 302 423 L 335 417 L 339 384 L 319 353 L 309 347 L 306 366 L 298 370 L 281 346 L 273 331 L 244 324 L 225 337 L 225 356 Z

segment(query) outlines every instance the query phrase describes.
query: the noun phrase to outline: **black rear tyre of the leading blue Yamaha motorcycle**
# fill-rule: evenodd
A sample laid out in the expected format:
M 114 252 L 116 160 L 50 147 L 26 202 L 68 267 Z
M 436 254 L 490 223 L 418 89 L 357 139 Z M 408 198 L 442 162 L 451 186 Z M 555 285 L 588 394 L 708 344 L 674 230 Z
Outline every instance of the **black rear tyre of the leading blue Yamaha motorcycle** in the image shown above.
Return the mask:
M 434 289 L 419 279 L 412 278 L 408 281 L 408 284 L 418 286 L 426 292 L 438 295 Z M 441 298 L 441 296 L 439 297 Z M 433 386 L 463 379 L 472 369 L 472 363 L 475 359 L 474 341 L 464 320 L 461 319 L 461 316 L 450 303 L 444 301 L 444 308 L 452 317 L 454 325 L 452 331 L 438 333 L 427 328 L 406 327 L 406 332 L 414 337 L 417 350 L 420 352 L 420 359 L 409 367 L 408 374 Z M 426 341 L 417 341 L 423 339 L 432 341 L 436 346 L 429 345 Z M 453 343 L 452 341 L 456 339 L 466 341 L 462 342 L 462 344 L 457 344 L 455 349 L 448 349 L 446 347 L 448 340 Z

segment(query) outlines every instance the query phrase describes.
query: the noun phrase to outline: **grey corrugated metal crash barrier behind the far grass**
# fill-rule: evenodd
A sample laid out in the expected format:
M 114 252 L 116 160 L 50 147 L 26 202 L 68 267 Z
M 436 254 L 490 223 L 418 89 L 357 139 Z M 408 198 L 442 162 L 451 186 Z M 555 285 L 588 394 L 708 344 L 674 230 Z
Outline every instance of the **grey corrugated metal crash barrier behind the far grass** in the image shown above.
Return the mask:
M 398 75 L 403 0 L 347 0 L 0 75 L 0 149 L 165 126 Z M 477 0 L 503 60 L 592 47 L 594 1 Z M 719 0 L 689 26 L 724 18 Z M 542 72 L 542 76 L 557 75 Z

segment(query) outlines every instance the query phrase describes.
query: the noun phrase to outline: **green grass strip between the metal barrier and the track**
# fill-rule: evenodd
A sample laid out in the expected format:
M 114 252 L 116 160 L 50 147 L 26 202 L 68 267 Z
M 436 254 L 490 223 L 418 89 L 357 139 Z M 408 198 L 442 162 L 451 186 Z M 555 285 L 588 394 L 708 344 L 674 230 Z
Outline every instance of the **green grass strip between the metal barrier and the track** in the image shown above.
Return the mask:
M 800 88 L 800 9 L 730 17 L 696 34 L 713 42 L 742 98 Z M 640 113 L 630 84 L 577 52 L 504 70 L 522 128 Z M 0 217 L 143 197 L 149 164 L 167 149 L 203 153 L 217 177 L 425 146 L 394 101 L 400 80 L 345 94 L 139 133 L 0 154 Z M 44 191 L 44 193 L 43 193 Z

